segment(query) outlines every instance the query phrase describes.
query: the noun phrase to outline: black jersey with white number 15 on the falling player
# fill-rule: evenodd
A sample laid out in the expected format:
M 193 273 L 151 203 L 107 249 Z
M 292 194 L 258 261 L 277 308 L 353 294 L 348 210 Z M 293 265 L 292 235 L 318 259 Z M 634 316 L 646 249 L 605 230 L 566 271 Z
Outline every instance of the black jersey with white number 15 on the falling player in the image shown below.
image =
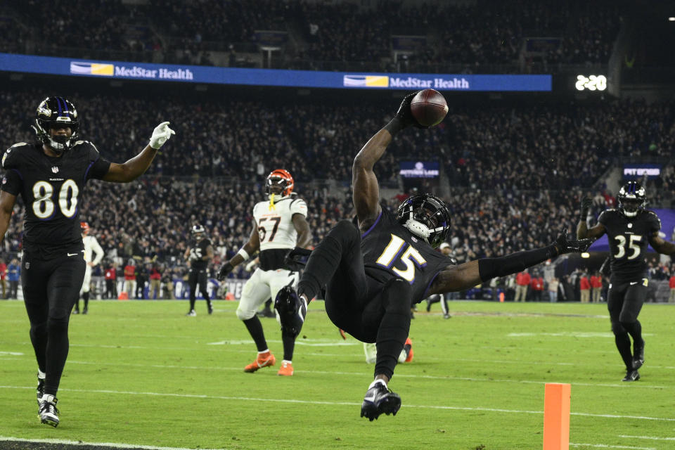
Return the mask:
M 454 264 L 449 257 L 413 236 L 385 209 L 375 224 L 361 235 L 361 253 L 367 276 L 380 283 L 391 278 L 407 281 L 413 290 L 413 303 L 424 300 L 439 271 Z

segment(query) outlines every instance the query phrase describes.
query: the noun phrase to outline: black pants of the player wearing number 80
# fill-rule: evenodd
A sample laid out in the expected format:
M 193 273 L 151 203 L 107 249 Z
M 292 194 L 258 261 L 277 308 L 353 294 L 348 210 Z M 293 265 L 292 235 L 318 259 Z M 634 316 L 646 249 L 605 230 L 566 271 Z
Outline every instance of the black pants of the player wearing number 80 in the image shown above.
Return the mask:
M 79 298 L 85 267 L 81 250 L 64 250 L 63 256 L 49 260 L 29 252 L 23 254 L 23 301 L 30 320 L 30 342 L 37 366 L 46 373 L 46 394 L 56 395 L 68 358 L 68 321 Z

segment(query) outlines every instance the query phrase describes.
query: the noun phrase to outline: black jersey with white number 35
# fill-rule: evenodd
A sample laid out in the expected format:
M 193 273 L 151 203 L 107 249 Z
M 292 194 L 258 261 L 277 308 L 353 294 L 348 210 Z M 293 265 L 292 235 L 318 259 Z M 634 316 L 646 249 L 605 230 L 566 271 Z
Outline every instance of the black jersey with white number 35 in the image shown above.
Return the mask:
M 636 217 L 626 217 L 619 210 L 605 210 L 598 217 L 610 240 L 612 276 L 643 278 L 647 271 L 645 252 L 649 238 L 661 229 L 659 217 L 640 210 Z

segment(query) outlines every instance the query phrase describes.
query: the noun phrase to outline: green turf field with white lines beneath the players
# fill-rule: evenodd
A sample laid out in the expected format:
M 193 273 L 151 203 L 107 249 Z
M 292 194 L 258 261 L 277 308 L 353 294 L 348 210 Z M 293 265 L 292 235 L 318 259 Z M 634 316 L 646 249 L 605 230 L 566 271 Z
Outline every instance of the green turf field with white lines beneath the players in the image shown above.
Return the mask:
M 420 307 L 423 307 L 423 303 Z M 243 367 L 255 347 L 235 302 L 92 301 L 72 316 L 58 394 L 41 425 L 22 302 L 0 302 L 0 438 L 188 449 L 541 449 L 544 383 L 572 384 L 572 449 L 675 449 L 675 307 L 647 304 L 642 379 L 622 383 L 605 304 L 451 302 L 418 312 L 414 360 L 397 367 L 396 417 L 359 417 L 373 366 L 310 305 L 295 375 Z M 423 308 L 420 308 L 423 309 Z M 434 314 L 435 313 L 435 314 Z M 0 442 L 1 446 L 2 442 Z

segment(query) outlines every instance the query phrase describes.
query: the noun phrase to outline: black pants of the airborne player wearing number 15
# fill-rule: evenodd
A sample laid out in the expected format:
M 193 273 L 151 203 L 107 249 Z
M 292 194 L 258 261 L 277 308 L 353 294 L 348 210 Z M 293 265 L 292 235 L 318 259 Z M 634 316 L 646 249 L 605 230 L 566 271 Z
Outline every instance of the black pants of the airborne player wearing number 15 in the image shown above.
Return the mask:
M 375 375 L 392 378 L 410 330 L 411 287 L 366 275 L 361 232 L 351 221 L 338 222 L 311 252 L 298 294 L 311 300 L 324 286 L 330 320 L 362 342 L 376 342 Z

